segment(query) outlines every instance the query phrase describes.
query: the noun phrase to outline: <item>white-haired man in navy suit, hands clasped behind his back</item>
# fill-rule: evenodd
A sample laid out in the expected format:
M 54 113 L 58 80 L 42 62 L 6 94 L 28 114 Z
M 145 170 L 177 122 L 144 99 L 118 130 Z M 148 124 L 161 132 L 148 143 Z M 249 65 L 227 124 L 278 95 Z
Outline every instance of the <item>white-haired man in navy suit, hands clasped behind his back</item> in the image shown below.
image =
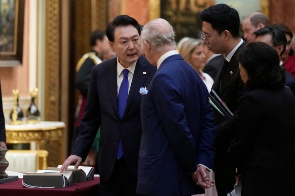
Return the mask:
M 207 88 L 177 54 L 173 28 L 166 20 L 145 24 L 141 41 L 142 53 L 158 71 L 141 91 L 137 193 L 202 193 L 202 187 L 214 184 L 209 171 L 214 162 L 215 123 Z

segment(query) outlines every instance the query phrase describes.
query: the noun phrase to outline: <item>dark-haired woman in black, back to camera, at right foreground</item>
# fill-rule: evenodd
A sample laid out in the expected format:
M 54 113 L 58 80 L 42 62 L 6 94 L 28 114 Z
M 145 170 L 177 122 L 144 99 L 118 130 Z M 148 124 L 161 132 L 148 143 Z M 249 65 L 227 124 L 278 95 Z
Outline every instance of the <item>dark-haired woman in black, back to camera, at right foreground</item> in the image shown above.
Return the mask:
M 276 51 L 252 42 L 239 54 L 249 89 L 238 101 L 235 138 L 229 149 L 242 196 L 291 195 L 295 184 L 295 97 L 284 86 Z

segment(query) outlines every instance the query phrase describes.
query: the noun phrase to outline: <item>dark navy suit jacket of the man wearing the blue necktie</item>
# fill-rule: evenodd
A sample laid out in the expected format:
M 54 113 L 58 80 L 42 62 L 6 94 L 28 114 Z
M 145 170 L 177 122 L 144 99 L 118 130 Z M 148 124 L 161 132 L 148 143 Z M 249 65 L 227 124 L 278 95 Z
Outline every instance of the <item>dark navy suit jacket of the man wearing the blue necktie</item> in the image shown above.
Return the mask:
M 88 88 L 88 100 L 80 134 L 73 146 L 71 155 L 85 161 L 99 126 L 99 175 L 108 180 L 116 161 L 119 138 L 122 141 L 124 159 L 127 167 L 137 179 L 137 164 L 140 138 L 140 87 L 150 84 L 156 66 L 150 65 L 141 56 L 136 63 L 132 84 L 128 94 L 125 113 L 120 119 L 117 109 L 117 58 L 104 61 L 93 67 Z

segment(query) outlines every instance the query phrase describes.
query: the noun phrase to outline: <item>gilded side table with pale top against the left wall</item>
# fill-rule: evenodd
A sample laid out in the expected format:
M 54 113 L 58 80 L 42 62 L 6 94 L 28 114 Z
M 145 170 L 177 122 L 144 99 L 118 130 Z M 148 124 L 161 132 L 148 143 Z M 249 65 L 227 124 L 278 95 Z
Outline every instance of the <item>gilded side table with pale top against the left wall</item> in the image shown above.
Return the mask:
M 39 124 L 6 124 L 7 143 L 29 143 L 30 150 L 48 151 L 48 167 L 57 167 L 62 160 L 64 122 L 41 121 Z

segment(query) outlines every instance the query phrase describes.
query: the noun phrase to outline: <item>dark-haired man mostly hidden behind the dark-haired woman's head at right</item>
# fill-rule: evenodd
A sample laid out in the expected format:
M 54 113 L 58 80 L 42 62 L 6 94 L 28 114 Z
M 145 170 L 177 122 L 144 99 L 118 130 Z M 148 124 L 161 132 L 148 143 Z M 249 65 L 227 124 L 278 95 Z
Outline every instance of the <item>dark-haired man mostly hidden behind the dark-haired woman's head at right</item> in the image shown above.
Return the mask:
M 266 26 L 254 32 L 256 36 L 256 41 L 261 41 L 272 46 L 277 54 L 280 57 L 280 65 L 284 66 L 281 61 L 281 56 L 284 54 L 287 38 L 283 31 L 281 31 L 278 27 L 274 26 Z M 293 94 L 295 95 L 295 78 L 285 69 L 285 86 L 288 86 Z

